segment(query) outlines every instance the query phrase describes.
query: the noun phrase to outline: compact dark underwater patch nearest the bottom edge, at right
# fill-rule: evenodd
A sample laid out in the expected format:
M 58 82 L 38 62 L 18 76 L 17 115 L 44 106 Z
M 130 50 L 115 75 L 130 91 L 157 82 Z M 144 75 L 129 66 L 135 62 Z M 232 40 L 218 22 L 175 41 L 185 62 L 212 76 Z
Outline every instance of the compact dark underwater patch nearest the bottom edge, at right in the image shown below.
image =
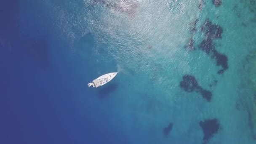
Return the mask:
M 203 144 L 208 141 L 219 131 L 219 121 L 214 119 L 207 119 L 199 122 L 200 127 L 203 129 Z

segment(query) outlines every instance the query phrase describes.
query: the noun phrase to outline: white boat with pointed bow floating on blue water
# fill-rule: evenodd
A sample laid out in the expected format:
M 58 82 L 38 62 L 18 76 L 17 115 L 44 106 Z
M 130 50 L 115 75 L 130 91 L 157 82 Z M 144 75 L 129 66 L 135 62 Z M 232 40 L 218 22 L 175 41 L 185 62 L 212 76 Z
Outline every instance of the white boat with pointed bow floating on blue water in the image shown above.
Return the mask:
M 99 86 L 105 85 L 110 80 L 112 80 L 117 75 L 117 73 L 118 72 L 111 72 L 105 75 L 101 75 L 100 77 L 93 80 L 92 83 L 88 83 L 88 87 L 92 85 L 93 88 L 98 88 Z

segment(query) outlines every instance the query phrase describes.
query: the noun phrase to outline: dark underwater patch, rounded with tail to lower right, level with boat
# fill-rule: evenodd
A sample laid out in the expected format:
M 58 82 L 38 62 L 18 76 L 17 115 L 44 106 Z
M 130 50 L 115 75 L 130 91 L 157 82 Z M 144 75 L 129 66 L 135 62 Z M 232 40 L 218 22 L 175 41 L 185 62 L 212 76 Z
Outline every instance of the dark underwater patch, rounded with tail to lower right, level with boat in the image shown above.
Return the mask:
M 211 91 L 205 90 L 200 85 L 198 85 L 197 80 L 192 75 L 184 75 L 181 82 L 179 83 L 179 86 L 186 92 L 195 91 L 200 93 L 204 99 L 211 101 Z

